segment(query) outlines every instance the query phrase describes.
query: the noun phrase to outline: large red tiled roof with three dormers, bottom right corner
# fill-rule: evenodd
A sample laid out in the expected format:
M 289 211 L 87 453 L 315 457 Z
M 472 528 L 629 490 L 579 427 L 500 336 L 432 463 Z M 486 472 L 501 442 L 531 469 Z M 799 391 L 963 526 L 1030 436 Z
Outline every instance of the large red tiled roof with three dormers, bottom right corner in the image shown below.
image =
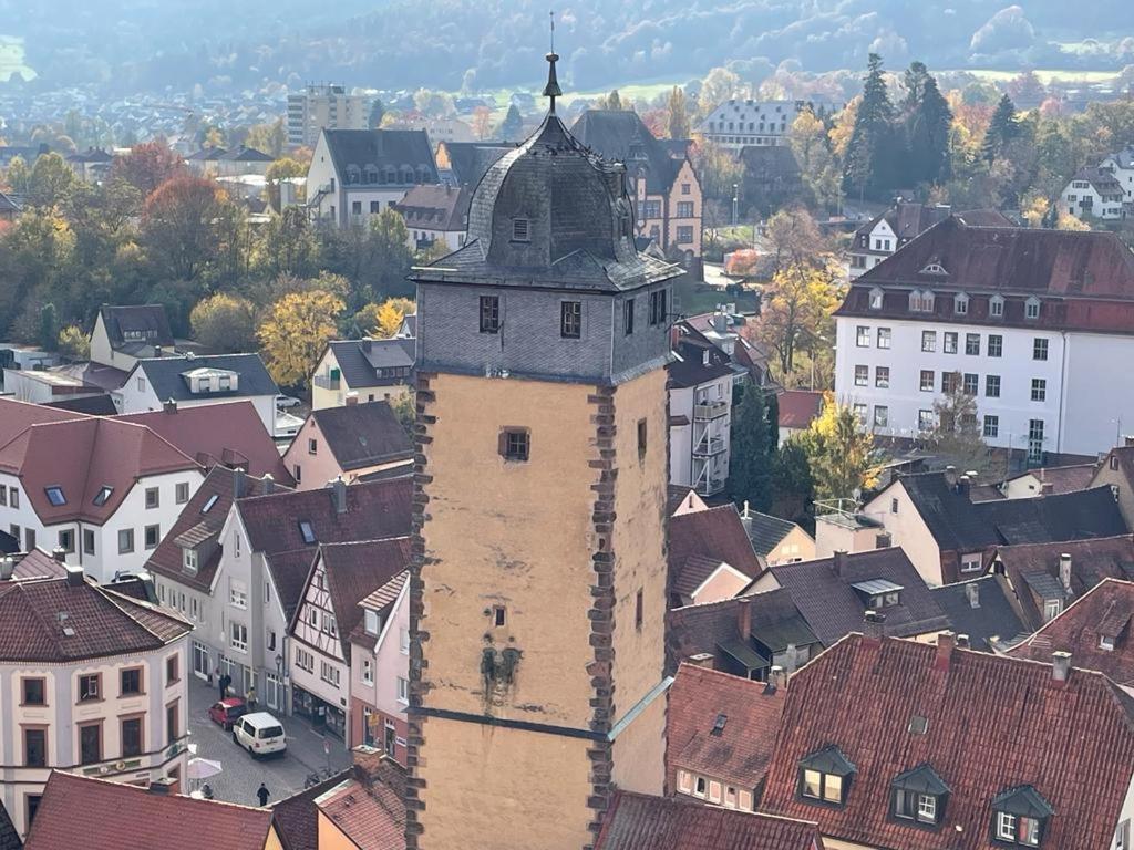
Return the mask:
M 1048 664 L 850 635 L 792 680 L 762 805 L 870 847 L 983 850 L 992 799 L 1031 785 L 1056 813 L 1043 847 L 1098 850 L 1134 771 L 1131 705 L 1099 673 L 1057 681 Z M 914 716 L 923 734 L 909 731 Z M 801 759 L 830 746 L 856 768 L 841 808 L 798 794 Z M 889 814 L 894 779 L 922 764 L 949 789 L 936 832 Z

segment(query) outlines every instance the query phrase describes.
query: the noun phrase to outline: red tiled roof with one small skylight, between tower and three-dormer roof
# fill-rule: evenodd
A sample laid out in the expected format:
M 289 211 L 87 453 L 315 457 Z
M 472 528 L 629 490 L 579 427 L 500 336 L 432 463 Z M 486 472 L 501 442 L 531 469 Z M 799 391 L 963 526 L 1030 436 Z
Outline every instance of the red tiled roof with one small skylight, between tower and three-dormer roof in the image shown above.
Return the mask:
M 759 788 L 784 712 L 784 691 L 764 682 L 682 664 L 669 689 L 666 775 L 678 768 Z M 723 717 L 723 728 L 713 729 Z

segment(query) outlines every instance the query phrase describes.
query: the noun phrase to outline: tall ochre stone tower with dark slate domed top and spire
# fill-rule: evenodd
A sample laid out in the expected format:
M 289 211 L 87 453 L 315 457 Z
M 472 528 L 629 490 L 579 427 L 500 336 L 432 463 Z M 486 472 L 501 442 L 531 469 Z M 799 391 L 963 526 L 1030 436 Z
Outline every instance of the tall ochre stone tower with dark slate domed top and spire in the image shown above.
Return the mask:
M 407 843 L 581 850 L 662 790 L 669 281 L 551 108 L 420 270 Z

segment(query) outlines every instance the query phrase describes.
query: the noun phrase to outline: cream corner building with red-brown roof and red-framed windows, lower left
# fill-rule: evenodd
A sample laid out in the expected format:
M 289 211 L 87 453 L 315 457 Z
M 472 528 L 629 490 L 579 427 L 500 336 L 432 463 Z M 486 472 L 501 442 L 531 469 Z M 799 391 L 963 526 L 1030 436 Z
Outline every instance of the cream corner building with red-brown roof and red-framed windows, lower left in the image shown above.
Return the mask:
M 121 783 L 187 779 L 189 622 L 77 567 L 0 580 L 0 802 L 22 835 L 39 825 L 53 770 Z

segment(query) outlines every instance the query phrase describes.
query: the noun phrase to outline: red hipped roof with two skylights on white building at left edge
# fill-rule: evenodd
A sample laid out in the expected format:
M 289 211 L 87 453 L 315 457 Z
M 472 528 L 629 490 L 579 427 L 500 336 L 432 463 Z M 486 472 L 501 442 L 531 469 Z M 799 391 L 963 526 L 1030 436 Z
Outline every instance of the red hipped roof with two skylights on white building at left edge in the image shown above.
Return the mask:
M 0 447 L 0 469 L 20 477 L 44 525 L 73 520 L 101 525 L 138 478 L 200 467 L 150 428 L 83 417 L 27 426 Z M 51 486 L 62 488 L 64 504 L 48 500 Z M 94 498 L 103 486 L 112 487 L 110 498 L 96 505 Z

